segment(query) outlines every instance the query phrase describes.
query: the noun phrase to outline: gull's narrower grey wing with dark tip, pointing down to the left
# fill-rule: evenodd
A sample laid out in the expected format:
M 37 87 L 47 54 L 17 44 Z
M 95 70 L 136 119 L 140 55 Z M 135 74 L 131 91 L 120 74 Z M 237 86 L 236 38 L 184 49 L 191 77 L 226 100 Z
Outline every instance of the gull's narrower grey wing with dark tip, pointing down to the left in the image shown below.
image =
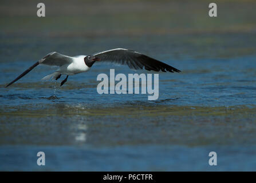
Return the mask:
M 57 53 L 56 51 L 49 53 L 45 55 L 44 58 L 40 59 L 40 61 L 34 63 L 29 69 L 25 70 L 21 75 L 19 75 L 17 78 L 15 78 L 13 81 L 11 81 L 8 85 L 5 87 L 10 86 L 12 83 L 18 81 L 18 79 L 22 78 L 24 75 L 29 73 L 34 67 L 38 66 L 39 64 L 44 64 L 44 65 L 52 65 L 52 66 L 62 66 L 65 64 L 72 63 L 72 58 L 68 57 L 66 55 L 62 55 L 60 53 Z

